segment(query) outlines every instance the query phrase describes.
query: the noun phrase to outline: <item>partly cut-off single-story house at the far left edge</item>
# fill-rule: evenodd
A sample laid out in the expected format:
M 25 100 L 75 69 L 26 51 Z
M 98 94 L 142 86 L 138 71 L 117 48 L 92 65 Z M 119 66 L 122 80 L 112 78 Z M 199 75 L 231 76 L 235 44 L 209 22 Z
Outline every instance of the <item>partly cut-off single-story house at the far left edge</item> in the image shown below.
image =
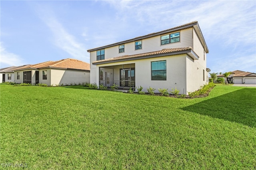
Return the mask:
M 18 69 L 20 67 L 24 67 L 26 65 L 22 66 L 12 66 L 12 67 L 6 67 L 0 69 L 0 83 L 4 82 L 14 82 L 14 71 L 12 69 Z

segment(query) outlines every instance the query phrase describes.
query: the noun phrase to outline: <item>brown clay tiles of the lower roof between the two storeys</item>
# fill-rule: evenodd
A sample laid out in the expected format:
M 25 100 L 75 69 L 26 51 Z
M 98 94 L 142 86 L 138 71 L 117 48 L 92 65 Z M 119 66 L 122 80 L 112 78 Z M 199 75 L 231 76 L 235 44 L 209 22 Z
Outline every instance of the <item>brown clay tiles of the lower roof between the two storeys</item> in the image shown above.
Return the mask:
M 134 54 L 134 55 L 123 55 L 123 56 L 120 56 L 120 57 L 98 60 L 98 61 L 92 62 L 92 64 L 104 63 L 104 62 L 108 62 L 108 61 L 118 61 L 118 60 L 124 60 L 124 59 L 133 59 L 133 58 L 136 59 L 138 57 L 146 57 L 146 56 L 150 56 L 150 55 L 173 53 L 173 52 L 185 51 L 185 50 L 191 50 L 191 49 L 192 49 L 191 47 L 162 49 L 160 51 L 152 51 L 152 52 L 148 52 L 148 53 L 140 53 L 140 54 Z

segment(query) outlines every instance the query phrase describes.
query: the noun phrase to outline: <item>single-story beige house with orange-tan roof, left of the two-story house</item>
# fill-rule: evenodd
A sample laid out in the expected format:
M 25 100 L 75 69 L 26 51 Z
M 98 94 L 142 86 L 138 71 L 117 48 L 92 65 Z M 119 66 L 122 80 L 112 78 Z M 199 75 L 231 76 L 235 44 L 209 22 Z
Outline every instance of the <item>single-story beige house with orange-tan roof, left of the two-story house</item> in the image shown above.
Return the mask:
M 90 64 L 77 59 L 46 61 L 14 69 L 16 83 L 67 85 L 90 82 Z

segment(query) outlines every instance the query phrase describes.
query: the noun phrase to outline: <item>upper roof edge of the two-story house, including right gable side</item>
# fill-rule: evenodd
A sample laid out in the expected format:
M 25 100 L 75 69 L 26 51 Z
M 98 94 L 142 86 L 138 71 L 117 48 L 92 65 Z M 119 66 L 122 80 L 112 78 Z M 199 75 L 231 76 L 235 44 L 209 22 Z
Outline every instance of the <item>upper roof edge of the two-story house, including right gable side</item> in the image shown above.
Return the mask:
M 163 35 L 163 34 L 168 34 L 170 32 L 174 32 L 174 31 L 178 31 L 178 30 L 184 30 L 184 29 L 192 28 L 192 27 L 196 28 L 195 30 L 198 33 L 199 39 L 200 39 L 201 43 L 203 44 L 203 46 L 205 47 L 206 53 L 208 53 L 209 52 L 208 47 L 206 45 L 206 42 L 204 40 L 204 37 L 202 35 L 202 32 L 200 30 L 200 27 L 199 27 L 197 21 L 193 21 L 193 22 L 181 25 L 181 26 L 176 26 L 174 28 L 170 28 L 170 29 L 163 30 L 163 31 L 160 31 L 160 32 L 150 33 L 150 34 L 147 34 L 145 36 L 139 36 L 139 37 L 132 38 L 132 39 L 129 39 L 129 40 L 125 40 L 125 41 L 121 41 L 121 42 L 117 42 L 117 43 L 112 43 L 112 44 L 109 44 L 109 45 L 104 45 L 104 46 L 101 46 L 101 47 L 96 47 L 96 48 L 88 49 L 87 52 L 96 51 L 96 50 L 103 49 L 103 48 L 108 48 L 108 47 L 113 47 L 115 45 L 120 45 L 122 43 L 129 43 L 129 42 L 134 42 L 134 41 L 142 40 L 142 39 L 145 39 L 145 38 L 151 38 L 151 37 L 154 37 L 154 36 L 160 36 L 160 35 Z

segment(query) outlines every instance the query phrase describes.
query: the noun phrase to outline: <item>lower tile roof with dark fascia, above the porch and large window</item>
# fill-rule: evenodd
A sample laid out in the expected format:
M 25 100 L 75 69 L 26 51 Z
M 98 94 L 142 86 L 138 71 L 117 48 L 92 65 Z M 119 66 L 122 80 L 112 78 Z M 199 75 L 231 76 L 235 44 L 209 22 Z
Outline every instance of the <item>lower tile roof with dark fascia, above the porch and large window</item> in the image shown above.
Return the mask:
M 120 57 L 114 57 L 114 58 L 109 58 L 109 59 L 104 59 L 104 60 L 98 60 L 92 62 L 92 64 L 97 64 L 97 63 L 110 63 L 110 62 L 116 62 L 116 61 L 125 61 L 125 60 L 131 60 L 131 59 L 142 59 L 144 58 L 149 58 L 150 56 L 167 56 L 167 55 L 177 55 L 175 52 L 182 52 L 185 51 L 184 53 L 188 53 L 188 50 L 192 50 L 191 47 L 183 47 L 183 48 L 171 48 L 171 49 L 162 49 L 160 51 L 152 51 L 148 53 L 140 53 L 140 54 L 134 54 L 134 55 L 123 55 Z

